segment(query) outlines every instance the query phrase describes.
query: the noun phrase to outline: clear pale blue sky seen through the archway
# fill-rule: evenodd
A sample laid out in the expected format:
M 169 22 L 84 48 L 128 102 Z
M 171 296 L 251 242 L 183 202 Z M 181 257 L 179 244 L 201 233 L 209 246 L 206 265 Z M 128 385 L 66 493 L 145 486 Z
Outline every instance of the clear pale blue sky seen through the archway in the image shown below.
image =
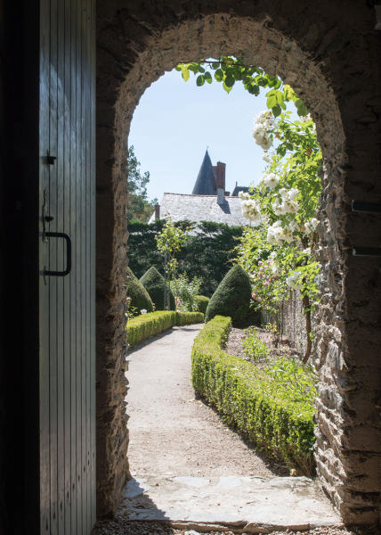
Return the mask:
M 191 193 L 208 147 L 212 163 L 226 163 L 226 189 L 256 184 L 263 151 L 251 136 L 253 119 L 266 109 L 263 91 L 249 95 L 240 83 L 228 95 L 216 82 L 198 87 L 173 70 L 150 86 L 134 111 L 128 144 L 141 170 L 150 171 L 149 198 Z

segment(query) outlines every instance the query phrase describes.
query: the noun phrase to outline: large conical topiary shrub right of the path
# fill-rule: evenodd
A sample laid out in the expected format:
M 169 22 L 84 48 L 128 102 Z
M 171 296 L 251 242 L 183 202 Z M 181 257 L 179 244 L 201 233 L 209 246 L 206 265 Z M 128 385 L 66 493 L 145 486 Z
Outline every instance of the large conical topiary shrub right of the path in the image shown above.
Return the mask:
M 223 277 L 210 298 L 205 321 L 216 315 L 230 316 L 234 327 L 247 327 L 257 323 L 257 313 L 250 309 L 251 284 L 246 271 L 234 266 Z

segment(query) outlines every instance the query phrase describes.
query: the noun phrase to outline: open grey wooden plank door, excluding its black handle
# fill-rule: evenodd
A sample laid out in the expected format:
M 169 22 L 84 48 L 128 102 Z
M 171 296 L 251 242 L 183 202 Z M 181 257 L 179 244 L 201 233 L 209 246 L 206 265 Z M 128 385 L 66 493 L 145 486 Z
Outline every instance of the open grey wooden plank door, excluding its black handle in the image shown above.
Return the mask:
M 41 0 L 40 199 L 68 233 L 72 271 L 40 284 L 41 533 L 90 535 L 95 522 L 95 40 L 93 0 Z M 45 93 L 44 93 L 45 88 Z M 63 240 L 41 241 L 62 270 Z M 43 277 L 42 277 L 43 278 Z M 44 306 L 45 303 L 45 306 Z

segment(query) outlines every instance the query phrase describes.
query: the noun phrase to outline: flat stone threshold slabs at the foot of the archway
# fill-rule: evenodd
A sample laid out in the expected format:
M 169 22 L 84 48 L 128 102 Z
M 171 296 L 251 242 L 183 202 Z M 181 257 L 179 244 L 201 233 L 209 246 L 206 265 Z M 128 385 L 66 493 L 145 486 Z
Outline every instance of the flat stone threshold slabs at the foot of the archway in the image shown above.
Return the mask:
M 121 508 L 131 521 L 196 531 L 343 527 L 318 484 L 306 477 L 147 476 L 128 481 Z

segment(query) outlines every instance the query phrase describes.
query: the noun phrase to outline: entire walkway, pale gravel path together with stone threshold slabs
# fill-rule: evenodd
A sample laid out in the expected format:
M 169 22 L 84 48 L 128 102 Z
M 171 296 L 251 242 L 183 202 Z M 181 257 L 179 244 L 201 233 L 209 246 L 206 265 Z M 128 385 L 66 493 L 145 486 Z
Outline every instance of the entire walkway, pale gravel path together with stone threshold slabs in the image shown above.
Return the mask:
M 119 518 L 255 533 L 340 525 L 312 480 L 279 477 L 277 466 L 255 454 L 213 409 L 195 399 L 190 351 L 202 326 L 174 327 L 129 353 L 133 479 Z

